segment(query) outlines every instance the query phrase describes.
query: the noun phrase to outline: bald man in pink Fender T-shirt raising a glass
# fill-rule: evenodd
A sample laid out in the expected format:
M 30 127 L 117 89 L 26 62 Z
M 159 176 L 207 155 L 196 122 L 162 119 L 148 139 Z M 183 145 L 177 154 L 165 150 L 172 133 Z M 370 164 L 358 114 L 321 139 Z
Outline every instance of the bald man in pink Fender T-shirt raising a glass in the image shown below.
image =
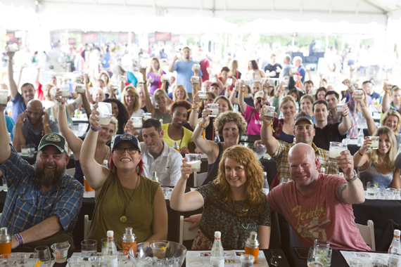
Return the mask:
M 286 217 L 304 247 L 315 239 L 327 240 L 333 249 L 371 250 L 355 224 L 351 204 L 364 202 L 364 188 L 354 171 L 350 151 L 336 157 L 344 177 L 319 174 L 313 148 L 297 143 L 288 152 L 293 181 L 282 183 L 267 195 L 270 209 Z

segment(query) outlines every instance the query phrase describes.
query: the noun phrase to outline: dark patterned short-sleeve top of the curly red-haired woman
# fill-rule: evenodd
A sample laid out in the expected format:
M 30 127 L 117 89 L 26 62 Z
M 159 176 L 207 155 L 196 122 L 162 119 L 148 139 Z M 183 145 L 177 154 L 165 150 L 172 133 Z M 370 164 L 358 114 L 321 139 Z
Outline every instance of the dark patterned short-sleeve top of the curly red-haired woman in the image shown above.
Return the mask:
M 224 233 L 222 235 L 224 249 L 243 249 L 250 232 L 257 232 L 258 226 L 270 226 L 270 209 L 267 201 L 256 207 L 249 207 L 246 200 L 223 202 L 218 195 L 219 189 L 212 182 L 196 190 L 205 202 L 199 228 L 209 240 L 214 240 L 215 231 Z M 238 211 L 246 209 L 248 209 L 246 213 L 238 214 Z M 248 228 L 245 229 L 243 226 Z

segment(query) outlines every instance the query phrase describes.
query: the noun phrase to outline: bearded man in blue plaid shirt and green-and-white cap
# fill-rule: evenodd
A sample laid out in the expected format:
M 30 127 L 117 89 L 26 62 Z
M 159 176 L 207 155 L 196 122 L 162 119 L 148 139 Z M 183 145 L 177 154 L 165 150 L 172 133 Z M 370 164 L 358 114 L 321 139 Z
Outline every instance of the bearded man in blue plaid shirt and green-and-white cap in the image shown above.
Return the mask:
M 0 171 L 8 191 L 0 226 L 12 236 L 13 249 L 58 242 L 68 242 L 73 248 L 72 230 L 84 187 L 65 174 L 68 144 L 58 133 L 46 134 L 39 143 L 36 164 L 31 166 L 8 144 L 4 109 L 0 107 Z

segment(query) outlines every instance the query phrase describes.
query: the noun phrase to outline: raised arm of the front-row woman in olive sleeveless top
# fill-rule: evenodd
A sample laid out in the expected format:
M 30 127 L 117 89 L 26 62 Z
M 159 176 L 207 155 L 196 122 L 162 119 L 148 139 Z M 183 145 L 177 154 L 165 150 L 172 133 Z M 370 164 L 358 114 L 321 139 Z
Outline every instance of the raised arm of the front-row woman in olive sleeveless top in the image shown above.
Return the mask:
M 94 110 L 92 110 L 92 114 L 89 117 L 91 129 L 89 129 L 84 143 L 82 144 L 81 157 L 79 158 L 85 178 L 87 178 L 87 182 L 91 188 L 95 190 L 95 193 L 101 190 L 103 183 L 106 181 L 106 178 L 110 173 L 109 169 L 98 164 L 95 160 L 96 141 L 98 139 L 98 130 L 101 127 L 101 124 L 98 124 L 99 119 L 97 115 L 99 113 L 96 111 L 97 107 L 98 105 L 95 104 Z

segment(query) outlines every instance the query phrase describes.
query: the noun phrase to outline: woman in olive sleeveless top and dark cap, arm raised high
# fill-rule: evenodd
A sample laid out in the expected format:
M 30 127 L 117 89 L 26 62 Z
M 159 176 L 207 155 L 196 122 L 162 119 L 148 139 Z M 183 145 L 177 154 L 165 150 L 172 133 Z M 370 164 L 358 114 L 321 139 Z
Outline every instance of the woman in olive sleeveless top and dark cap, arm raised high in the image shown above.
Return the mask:
M 97 105 L 89 117 L 91 129 L 82 144 L 81 167 L 85 178 L 95 191 L 94 209 L 89 239 L 98 241 L 114 230 L 120 237 L 125 227 L 132 226 L 136 242 L 166 240 L 167 208 L 160 184 L 142 175 L 144 162 L 138 139 L 131 134 L 115 138 L 110 156 L 110 169 L 95 159 L 96 140 L 101 125 L 98 124 Z M 122 249 L 120 242 L 117 248 Z

